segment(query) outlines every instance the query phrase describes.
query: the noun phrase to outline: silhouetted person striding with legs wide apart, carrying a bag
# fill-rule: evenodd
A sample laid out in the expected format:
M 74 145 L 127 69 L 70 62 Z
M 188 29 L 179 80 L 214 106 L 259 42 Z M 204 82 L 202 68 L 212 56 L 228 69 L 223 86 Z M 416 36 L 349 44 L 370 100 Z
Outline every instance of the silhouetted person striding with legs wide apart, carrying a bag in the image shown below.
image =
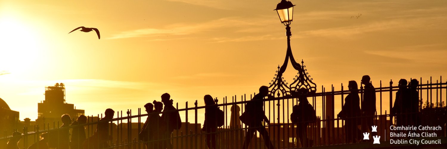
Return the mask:
M 269 119 L 267 119 L 266 113 L 263 110 L 262 99 L 269 94 L 269 87 L 261 86 L 259 88 L 259 93 L 254 95 L 250 102 L 245 104 L 245 112 L 248 114 L 250 119 L 246 125 L 249 126 L 247 134 L 245 135 L 244 145 L 242 149 L 247 149 L 249 147 L 250 141 L 253 138 L 254 132 L 258 131 L 259 134 L 264 138 L 264 143 L 268 149 L 274 149 L 272 142 L 270 141 L 269 132 L 267 132 L 266 127 L 262 125 L 262 120 L 267 124 L 270 124 Z M 241 115 L 242 116 L 242 115 Z

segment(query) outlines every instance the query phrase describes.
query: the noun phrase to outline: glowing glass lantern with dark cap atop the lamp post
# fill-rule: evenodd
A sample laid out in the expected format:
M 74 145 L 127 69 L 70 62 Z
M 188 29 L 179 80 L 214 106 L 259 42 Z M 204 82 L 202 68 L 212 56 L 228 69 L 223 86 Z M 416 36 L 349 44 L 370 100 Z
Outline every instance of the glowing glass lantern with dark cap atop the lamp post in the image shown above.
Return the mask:
M 292 2 L 281 0 L 278 5 L 276 5 L 276 12 L 278 12 L 279 20 L 284 25 L 290 25 L 291 21 L 293 20 L 293 5 Z

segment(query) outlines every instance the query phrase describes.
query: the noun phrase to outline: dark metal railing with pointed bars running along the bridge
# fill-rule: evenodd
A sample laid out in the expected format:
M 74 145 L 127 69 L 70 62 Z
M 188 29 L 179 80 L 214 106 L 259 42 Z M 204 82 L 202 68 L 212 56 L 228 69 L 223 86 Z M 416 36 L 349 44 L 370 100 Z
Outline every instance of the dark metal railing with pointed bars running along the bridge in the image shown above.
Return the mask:
M 441 77 L 442 80 L 442 77 Z M 382 81 L 375 87 L 376 94 L 376 113 L 371 118 L 374 119 L 374 125 L 378 126 L 377 135 L 381 137 L 381 141 L 387 141 L 390 138 L 390 126 L 396 123 L 396 116 L 404 116 L 405 119 L 416 119 L 412 115 L 417 115 L 420 118 L 421 125 L 440 126 L 442 130 L 427 131 L 435 132 L 437 136 L 446 136 L 446 106 L 445 101 L 447 97 L 447 82 L 436 83 L 427 81 L 421 82 L 417 85 L 419 94 L 418 112 L 417 113 L 402 113 L 390 115 L 398 86 L 393 86 L 390 81 L 388 87 L 382 85 Z M 387 83 L 388 84 L 388 83 Z M 341 110 L 344 104 L 344 98 L 350 93 L 346 90 L 343 84 L 341 90 L 335 91 L 331 86 L 330 91 L 321 86 L 321 92 L 308 95 L 309 103 L 312 104 L 316 111 L 317 119 L 309 121 L 307 129 L 307 136 L 312 140 L 313 146 L 321 145 L 339 145 L 349 143 L 346 141 L 346 134 L 344 131 L 344 120 L 337 118 L 337 113 Z M 363 100 L 363 88 L 358 89 L 360 100 Z M 218 102 L 218 106 L 224 112 L 224 125 L 213 132 L 216 134 L 216 146 L 219 149 L 240 149 L 245 139 L 245 134 L 248 126 L 240 123 L 239 115 L 245 111 L 245 103 L 249 102 L 253 95 L 232 96 L 231 101 L 228 97 L 220 98 L 222 103 Z M 275 149 L 289 149 L 302 147 L 297 136 L 297 123 L 291 123 L 290 115 L 292 106 L 297 105 L 297 96 L 285 96 L 276 98 L 266 98 L 263 100 L 264 111 L 270 124 L 263 123 L 266 130 L 269 132 L 270 140 Z M 202 100 L 200 100 L 202 101 Z M 202 117 L 206 106 L 198 106 L 198 101 L 195 101 L 194 106 L 190 107 L 188 102 L 185 103 L 184 108 L 179 108 L 177 103 L 177 111 L 182 116 L 182 126 L 179 130 L 174 130 L 170 138 L 174 149 L 206 149 L 206 136 L 209 134 L 201 130 Z M 360 102 L 361 103 L 361 102 Z M 360 105 L 359 105 L 360 106 Z M 164 112 L 152 113 L 163 114 Z M 145 149 L 145 143 L 153 143 L 160 140 L 142 141 L 138 135 L 143 127 L 146 117 L 149 114 L 143 114 L 141 109 L 116 111 L 115 118 L 106 121 L 109 123 L 109 135 L 107 138 L 107 145 L 110 149 Z M 410 115 L 410 116 L 409 116 Z M 393 117 L 394 116 L 394 117 Z M 91 137 L 97 129 L 97 124 L 101 123 L 99 119 L 101 115 L 88 116 L 88 123 L 78 126 L 69 126 L 59 128 L 60 123 L 46 123 L 43 125 L 34 125 L 24 127 L 21 135 L 20 147 L 27 148 L 28 146 L 38 142 L 42 133 L 56 135 L 59 140 L 69 139 L 60 136 L 61 132 L 72 131 L 76 127 L 84 127 L 87 137 Z M 354 117 L 351 119 L 362 119 L 364 117 Z M 192 121 L 190 121 L 192 119 Z M 199 121 L 200 120 L 200 121 Z M 360 125 L 361 123 L 358 123 Z M 57 133 L 56 133 L 57 132 Z M 255 132 L 255 135 L 249 145 L 250 149 L 264 149 L 261 136 Z M 0 148 L 6 149 L 6 142 L 13 138 L 11 134 L 4 134 L 0 138 Z M 360 139 L 358 140 L 360 141 Z M 97 146 L 86 146 L 87 148 L 98 148 Z

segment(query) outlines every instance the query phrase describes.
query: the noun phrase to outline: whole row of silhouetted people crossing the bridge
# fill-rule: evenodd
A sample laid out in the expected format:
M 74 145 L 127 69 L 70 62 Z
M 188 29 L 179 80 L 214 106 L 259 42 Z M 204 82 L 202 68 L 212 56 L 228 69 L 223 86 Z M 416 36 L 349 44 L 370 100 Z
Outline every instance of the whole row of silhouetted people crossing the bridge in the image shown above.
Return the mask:
M 371 126 L 376 115 L 376 97 L 375 88 L 371 84 L 370 77 L 365 75 L 362 77 L 361 84 L 364 85 L 363 100 L 360 108 L 359 89 L 356 81 L 349 81 L 348 88 L 350 93 L 346 96 L 342 111 L 337 117 L 345 121 L 344 130 L 347 143 L 355 143 L 362 138 L 362 132 L 371 132 Z M 419 111 L 419 95 L 417 91 L 418 81 L 413 79 L 407 87 L 407 81 L 401 79 L 399 81 L 399 89 L 396 92 L 396 99 L 391 116 L 396 117 L 397 126 L 416 125 L 420 123 L 417 117 Z M 290 120 L 296 124 L 296 134 L 301 142 L 302 147 L 312 147 L 313 140 L 308 138 L 308 124 L 316 121 L 316 112 L 312 104 L 309 103 L 307 97 L 308 89 L 300 88 L 298 93 L 299 104 L 293 106 Z M 264 144 L 268 149 L 274 149 L 270 141 L 269 133 L 265 122 L 270 124 L 269 119 L 263 110 L 263 99 L 269 95 L 269 88 L 261 86 L 259 93 L 255 94 L 251 101 L 245 104 L 245 111 L 240 115 L 239 119 L 248 126 L 245 134 L 242 149 L 249 147 L 250 141 L 257 131 L 264 139 Z M 174 130 L 181 128 L 181 118 L 177 109 L 173 106 L 173 100 L 170 99 L 168 93 L 161 95 L 161 102 L 153 101 L 144 105 L 145 111 L 148 113 L 141 131 L 139 139 L 145 142 L 147 149 L 173 149 L 171 136 Z M 216 130 L 223 126 L 223 111 L 217 105 L 217 99 L 211 95 L 205 95 L 205 121 L 203 122 L 202 131 L 206 133 L 206 144 L 209 149 L 216 149 Z M 164 107 L 163 107 L 164 106 Z M 162 112 L 163 111 L 163 112 Z M 160 116 L 160 113 L 162 114 Z M 112 109 L 105 110 L 105 117 L 99 120 L 96 131 L 89 138 L 86 137 L 84 125 L 87 117 L 80 115 L 76 121 L 72 122 L 69 115 L 62 115 L 63 122 L 60 128 L 68 126 L 78 126 L 72 128 L 70 134 L 69 129 L 60 129 L 55 132 L 47 132 L 41 135 L 41 139 L 31 145 L 28 149 L 102 149 L 108 148 L 107 143 L 112 140 L 109 133 L 110 120 L 114 117 Z M 361 125 L 361 130 L 358 125 Z M 377 132 L 371 132 L 374 133 Z M 70 136 L 71 135 L 71 136 Z M 13 137 L 7 144 L 7 149 L 19 149 L 17 143 L 21 139 L 20 132 L 13 132 Z M 368 141 L 368 140 L 367 140 Z

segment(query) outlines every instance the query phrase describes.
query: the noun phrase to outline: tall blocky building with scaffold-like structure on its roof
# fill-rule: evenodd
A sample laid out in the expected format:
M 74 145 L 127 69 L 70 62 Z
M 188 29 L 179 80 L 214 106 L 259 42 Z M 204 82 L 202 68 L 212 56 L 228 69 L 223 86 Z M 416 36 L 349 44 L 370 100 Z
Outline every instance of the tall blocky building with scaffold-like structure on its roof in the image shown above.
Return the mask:
M 45 123 L 60 121 L 63 114 L 77 118 L 84 115 L 84 110 L 76 109 L 73 104 L 65 102 L 65 85 L 56 83 L 55 86 L 45 87 L 45 100 L 37 104 L 38 119 L 42 119 Z

